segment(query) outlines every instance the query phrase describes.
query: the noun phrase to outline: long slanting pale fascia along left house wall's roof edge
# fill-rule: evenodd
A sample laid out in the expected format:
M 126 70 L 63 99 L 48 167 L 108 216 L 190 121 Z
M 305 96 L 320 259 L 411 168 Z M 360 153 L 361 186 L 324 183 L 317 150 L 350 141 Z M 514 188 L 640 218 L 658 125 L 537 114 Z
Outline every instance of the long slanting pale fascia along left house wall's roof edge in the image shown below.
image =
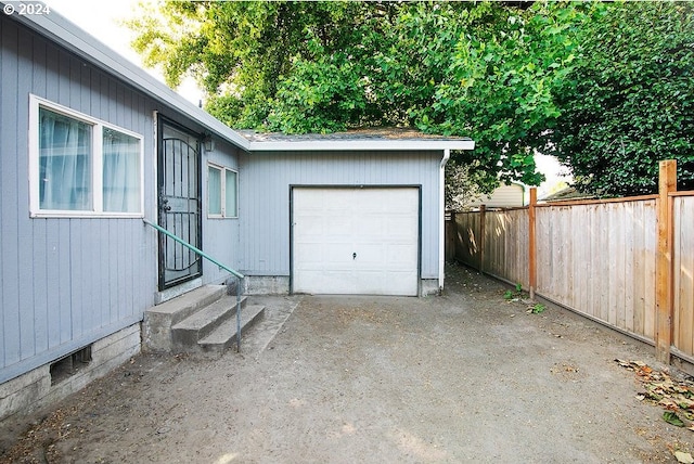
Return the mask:
M 4 7 L 4 4 L 7 3 L 0 1 L 0 5 Z M 18 15 L 15 13 L 12 18 L 48 37 L 69 52 L 134 87 L 152 99 L 195 120 L 218 137 L 248 151 L 247 139 L 198 108 L 166 85 L 150 76 L 144 69 L 130 63 L 127 59 L 120 56 L 59 13 L 54 11 L 44 15 Z

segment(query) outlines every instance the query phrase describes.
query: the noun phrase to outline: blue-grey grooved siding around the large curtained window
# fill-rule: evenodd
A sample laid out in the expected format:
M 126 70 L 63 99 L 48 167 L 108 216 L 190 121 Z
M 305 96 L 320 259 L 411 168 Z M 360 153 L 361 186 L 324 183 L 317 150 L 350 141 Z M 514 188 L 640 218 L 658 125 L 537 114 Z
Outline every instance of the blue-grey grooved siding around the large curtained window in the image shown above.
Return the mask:
M 154 210 L 155 105 L 0 18 L 0 382 L 142 319 L 154 302 L 156 236 L 139 219 L 29 218 L 29 94 L 144 137 Z

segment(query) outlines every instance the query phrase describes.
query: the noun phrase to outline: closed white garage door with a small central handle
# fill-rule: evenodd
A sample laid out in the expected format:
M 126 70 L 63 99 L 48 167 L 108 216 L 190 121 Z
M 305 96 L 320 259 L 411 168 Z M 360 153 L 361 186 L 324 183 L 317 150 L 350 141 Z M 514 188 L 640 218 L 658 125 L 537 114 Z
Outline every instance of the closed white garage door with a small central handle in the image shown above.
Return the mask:
M 294 188 L 292 209 L 295 293 L 417 295 L 419 189 Z

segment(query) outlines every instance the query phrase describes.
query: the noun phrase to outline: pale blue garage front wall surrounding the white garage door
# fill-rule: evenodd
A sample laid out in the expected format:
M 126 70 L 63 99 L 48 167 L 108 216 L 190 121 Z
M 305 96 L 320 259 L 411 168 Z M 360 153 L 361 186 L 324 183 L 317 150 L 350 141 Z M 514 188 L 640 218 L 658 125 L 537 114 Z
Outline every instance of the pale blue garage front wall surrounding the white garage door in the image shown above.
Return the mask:
M 237 266 L 250 276 L 249 292 L 288 292 L 290 185 L 421 184 L 421 279 L 425 287 L 436 281 L 441 227 L 438 210 L 441 156 L 439 152 L 254 153 L 242 156 L 240 240 L 246 246 L 240 249 Z M 434 288 L 438 289 L 437 282 Z

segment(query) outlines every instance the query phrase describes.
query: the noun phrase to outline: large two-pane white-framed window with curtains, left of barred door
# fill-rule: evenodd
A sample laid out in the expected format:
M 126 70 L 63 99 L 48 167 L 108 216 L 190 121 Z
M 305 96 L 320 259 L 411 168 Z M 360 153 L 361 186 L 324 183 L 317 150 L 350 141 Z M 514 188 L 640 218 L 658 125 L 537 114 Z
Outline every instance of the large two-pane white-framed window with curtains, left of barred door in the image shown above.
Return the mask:
M 31 95 L 35 217 L 140 217 L 142 136 Z

